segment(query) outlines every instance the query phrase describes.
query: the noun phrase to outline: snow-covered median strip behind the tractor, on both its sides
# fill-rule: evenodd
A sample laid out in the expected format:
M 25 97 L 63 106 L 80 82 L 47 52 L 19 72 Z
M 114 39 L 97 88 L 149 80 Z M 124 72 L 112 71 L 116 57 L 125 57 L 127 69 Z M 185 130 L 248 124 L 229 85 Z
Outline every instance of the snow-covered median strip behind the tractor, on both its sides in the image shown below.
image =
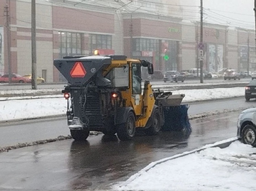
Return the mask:
M 30 91 L 31 90 L 22 90 L 23 93 Z M 17 91 L 13 92 L 16 93 Z M 244 96 L 244 87 L 176 90 L 172 92 L 173 94 L 185 94 L 183 102 L 191 102 Z M 12 92 L 9 91 L 8 94 L 10 93 Z M 67 100 L 61 95 L 0 98 L 0 121 L 65 114 L 66 110 Z

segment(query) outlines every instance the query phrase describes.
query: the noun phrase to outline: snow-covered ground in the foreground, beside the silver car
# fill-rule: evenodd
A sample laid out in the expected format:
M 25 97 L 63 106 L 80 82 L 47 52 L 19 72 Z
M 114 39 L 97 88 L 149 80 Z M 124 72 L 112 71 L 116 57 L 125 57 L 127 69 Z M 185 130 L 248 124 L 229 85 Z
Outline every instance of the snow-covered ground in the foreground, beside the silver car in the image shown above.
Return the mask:
M 200 149 L 196 151 L 198 150 Z M 124 191 L 256 190 L 256 148 L 235 141 L 224 149 L 212 147 L 193 152 L 153 162 L 128 180 L 117 182 L 112 189 Z M 186 155 L 187 153 L 191 154 Z M 177 158 L 177 156 L 182 157 Z

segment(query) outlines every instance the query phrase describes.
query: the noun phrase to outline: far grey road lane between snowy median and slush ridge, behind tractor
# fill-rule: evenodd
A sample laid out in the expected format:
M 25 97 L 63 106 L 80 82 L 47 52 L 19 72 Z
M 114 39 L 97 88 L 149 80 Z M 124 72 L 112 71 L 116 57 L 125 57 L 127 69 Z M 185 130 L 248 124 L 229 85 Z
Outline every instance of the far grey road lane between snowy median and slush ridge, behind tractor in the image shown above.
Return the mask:
M 255 99 L 245 102 L 242 98 L 189 103 L 188 114 L 195 115 L 224 109 L 255 107 Z M 19 121 L 0 124 L 0 147 L 69 135 L 66 117 Z

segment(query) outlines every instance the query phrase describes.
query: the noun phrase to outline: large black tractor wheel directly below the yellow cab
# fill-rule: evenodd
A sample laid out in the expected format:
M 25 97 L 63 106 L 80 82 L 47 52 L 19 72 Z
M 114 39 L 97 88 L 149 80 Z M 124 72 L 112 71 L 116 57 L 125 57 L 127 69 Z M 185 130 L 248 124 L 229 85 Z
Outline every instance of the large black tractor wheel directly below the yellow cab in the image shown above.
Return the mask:
M 135 117 L 133 112 L 128 113 L 125 123 L 121 123 L 116 127 L 117 136 L 120 140 L 130 140 L 135 136 Z

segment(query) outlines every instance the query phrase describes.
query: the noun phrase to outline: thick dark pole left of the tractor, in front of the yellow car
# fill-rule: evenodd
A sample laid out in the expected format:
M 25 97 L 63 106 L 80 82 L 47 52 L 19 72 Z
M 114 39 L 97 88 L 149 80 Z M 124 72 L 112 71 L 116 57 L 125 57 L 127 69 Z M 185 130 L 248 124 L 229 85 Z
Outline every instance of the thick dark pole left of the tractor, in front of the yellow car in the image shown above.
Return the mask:
M 37 89 L 36 84 L 36 1 L 31 0 L 31 52 L 32 52 L 32 90 Z

